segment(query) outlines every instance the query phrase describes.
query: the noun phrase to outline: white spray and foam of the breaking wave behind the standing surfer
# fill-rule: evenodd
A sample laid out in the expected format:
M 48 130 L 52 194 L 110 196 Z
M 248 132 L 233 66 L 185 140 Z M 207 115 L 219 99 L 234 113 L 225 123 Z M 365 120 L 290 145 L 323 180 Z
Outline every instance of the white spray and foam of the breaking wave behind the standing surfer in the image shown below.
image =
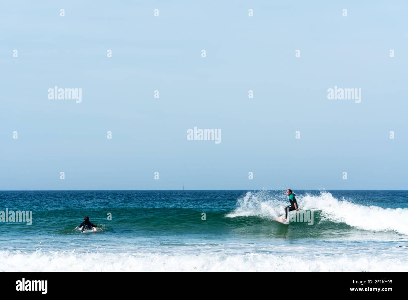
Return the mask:
M 338 200 L 328 192 L 318 196 L 297 196 L 299 207 L 302 210 L 319 210 L 323 219 L 335 223 L 346 223 L 358 229 L 378 231 L 396 231 L 408 235 L 408 209 L 382 208 L 351 203 L 347 200 Z M 227 217 L 259 216 L 276 218 L 284 213 L 288 201 L 271 199 L 263 192 L 248 192 L 238 199 L 236 209 L 227 214 Z

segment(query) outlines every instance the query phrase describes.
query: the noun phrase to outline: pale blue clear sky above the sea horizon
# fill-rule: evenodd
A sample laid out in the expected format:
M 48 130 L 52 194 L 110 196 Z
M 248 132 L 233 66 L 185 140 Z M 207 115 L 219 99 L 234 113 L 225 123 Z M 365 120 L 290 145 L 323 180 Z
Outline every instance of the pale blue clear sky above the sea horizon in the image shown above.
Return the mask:
M 2 2 L 1 190 L 408 188 L 406 1 L 128 2 Z

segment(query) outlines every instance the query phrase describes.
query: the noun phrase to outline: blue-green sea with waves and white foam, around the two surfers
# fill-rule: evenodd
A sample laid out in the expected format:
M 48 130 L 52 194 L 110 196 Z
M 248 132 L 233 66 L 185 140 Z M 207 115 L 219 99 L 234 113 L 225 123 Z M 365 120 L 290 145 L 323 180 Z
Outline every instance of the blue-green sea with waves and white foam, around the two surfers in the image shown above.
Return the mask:
M 294 192 L 1 191 L 0 271 L 408 271 L 408 191 Z

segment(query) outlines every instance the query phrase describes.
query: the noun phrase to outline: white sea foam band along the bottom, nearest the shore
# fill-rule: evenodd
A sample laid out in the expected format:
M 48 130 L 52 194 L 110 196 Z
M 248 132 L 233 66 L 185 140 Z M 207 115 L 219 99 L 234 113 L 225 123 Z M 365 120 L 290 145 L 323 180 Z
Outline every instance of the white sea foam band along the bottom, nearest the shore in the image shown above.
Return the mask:
M 304 258 L 297 254 L 166 255 L 38 250 L 1 251 L 0 271 L 408 271 L 408 261 L 398 256 L 369 254 Z

